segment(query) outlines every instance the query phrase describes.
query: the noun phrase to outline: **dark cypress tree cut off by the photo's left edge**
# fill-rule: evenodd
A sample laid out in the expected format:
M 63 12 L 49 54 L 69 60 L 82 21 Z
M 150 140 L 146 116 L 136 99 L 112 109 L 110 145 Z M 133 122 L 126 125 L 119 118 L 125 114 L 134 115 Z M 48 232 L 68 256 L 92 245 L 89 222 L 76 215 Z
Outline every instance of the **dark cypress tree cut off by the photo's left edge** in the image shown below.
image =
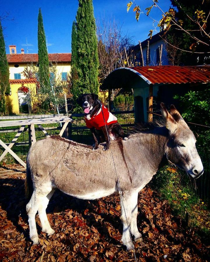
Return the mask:
M 6 58 L 6 48 L 0 20 L 0 113 L 6 111 L 5 93 L 10 93 L 9 65 Z

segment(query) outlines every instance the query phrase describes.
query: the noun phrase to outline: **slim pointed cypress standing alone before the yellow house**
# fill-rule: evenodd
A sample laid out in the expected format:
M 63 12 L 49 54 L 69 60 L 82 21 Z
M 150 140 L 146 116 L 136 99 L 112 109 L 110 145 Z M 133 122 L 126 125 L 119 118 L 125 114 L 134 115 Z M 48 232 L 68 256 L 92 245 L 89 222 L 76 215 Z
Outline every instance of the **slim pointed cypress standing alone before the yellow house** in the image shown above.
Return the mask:
M 47 91 L 50 88 L 50 71 L 41 8 L 38 13 L 38 65 L 40 87 Z

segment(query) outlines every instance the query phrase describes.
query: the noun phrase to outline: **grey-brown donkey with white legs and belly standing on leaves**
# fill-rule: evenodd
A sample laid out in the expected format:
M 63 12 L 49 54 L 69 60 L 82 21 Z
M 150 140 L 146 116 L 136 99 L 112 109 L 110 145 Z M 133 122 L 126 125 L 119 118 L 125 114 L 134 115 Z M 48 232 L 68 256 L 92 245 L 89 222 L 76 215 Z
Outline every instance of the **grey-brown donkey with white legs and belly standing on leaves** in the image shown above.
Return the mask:
M 26 193 L 31 196 L 26 209 L 33 244 L 39 242 L 35 222 L 37 211 L 42 231 L 48 236 L 55 233 L 46 215 L 55 188 L 80 199 L 98 199 L 117 194 L 121 189 L 121 242 L 127 251 L 132 250 L 128 225 L 134 241 L 142 242 L 136 221 L 138 192 L 160 166 L 169 160 L 192 178 L 198 178 L 204 172 L 195 147 L 195 136 L 174 105 L 169 113 L 162 104 L 161 113 L 163 125 L 151 124 L 149 128 L 130 134 L 127 141 L 112 141 L 110 151 L 99 148 L 93 152 L 91 146 L 59 136 L 51 136 L 31 146 L 25 185 Z

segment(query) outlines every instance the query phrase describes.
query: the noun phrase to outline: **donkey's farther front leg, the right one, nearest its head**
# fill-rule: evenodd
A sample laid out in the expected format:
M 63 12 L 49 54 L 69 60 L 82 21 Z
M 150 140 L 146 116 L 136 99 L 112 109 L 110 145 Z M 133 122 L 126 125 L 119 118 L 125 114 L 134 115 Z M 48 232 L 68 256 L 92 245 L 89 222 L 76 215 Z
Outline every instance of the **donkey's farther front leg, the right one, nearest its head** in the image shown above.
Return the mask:
M 134 192 L 132 194 L 132 218 L 131 218 L 131 225 L 130 225 L 130 231 L 131 234 L 134 236 L 135 242 L 142 242 L 142 235 L 139 233 L 139 230 L 137 228 L 137 215 L 138 215 L 138 192 Z

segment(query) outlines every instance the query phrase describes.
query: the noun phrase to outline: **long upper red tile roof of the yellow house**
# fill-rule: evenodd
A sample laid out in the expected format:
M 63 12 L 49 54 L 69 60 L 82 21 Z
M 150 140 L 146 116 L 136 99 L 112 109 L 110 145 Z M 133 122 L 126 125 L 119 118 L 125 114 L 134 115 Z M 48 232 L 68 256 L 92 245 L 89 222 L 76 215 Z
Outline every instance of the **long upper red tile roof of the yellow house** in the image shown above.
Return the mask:
M 38 54 L 7 54 L 8 63 L 37 63 Z M 48 54 L 51 62 L 71 62 L 71 53 Z

